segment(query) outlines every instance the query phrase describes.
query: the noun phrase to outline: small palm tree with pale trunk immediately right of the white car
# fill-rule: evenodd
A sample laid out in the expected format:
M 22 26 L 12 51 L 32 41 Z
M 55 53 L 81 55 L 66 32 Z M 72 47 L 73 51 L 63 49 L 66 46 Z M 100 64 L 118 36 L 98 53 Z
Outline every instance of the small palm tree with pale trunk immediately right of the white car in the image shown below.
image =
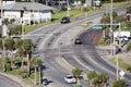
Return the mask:
M 73 69 L 72 72 L 71 72 L 72 75 L 76 78 L 78 85 L 80 85 L 80 78 L 81 78 L 82 72 L 83 72 L 83 71 L 80 70 L 80 69 L 78 69 L 78 67 L 76 67 L 76 69 Z

